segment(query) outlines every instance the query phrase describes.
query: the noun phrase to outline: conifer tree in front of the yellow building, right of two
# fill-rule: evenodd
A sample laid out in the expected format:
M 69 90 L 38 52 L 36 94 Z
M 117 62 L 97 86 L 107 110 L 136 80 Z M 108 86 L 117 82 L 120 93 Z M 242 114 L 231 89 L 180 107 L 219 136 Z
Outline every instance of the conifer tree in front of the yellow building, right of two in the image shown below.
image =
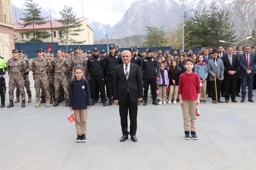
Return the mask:
M 63 18 L 61 20 L 57 20 L 62 24 L 62 27 L 58 28 L 62 35 L 62 38 L 59 40 L 63 44 L 82 44 L 85 41 L 76 41 L 72 38 L 73 36 L 79 35 L 79 32 L 84 30 L 81 28 L 82 22 L 77 21 L 78 19 L 76 19 L 76 14 L 72 9 L 72 7 L 64 6 L 64 9 L 59 12 Z

